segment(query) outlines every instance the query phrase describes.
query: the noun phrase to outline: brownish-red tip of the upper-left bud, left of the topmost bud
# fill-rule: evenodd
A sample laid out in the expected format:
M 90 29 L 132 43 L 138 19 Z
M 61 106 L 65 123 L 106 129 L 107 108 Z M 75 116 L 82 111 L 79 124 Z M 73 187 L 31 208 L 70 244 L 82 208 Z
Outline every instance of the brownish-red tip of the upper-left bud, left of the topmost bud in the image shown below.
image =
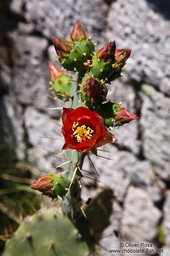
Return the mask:
M 70 53 L 72 49 L 72 45 L 70 42 L 60 39 L 58 37 L 52 37 L 52 42 L 54 44 L 57 55 L 62 58 L 65 57 L 67 53 Z

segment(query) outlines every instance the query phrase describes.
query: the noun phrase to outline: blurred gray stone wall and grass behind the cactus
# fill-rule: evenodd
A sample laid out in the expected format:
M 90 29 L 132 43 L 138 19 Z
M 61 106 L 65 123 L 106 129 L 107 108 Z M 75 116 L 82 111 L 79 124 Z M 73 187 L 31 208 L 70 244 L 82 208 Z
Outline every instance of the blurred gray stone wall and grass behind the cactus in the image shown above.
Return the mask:
M 83 186 L 84 200 L 99 187 L 113 190 L 101 255 L 130 241 L 152 243 L 163 248 L 157 255 L 169 256 L 169 0 L 0 0 L 0 250 L 41 205 L 29 185 L 62 163 L 49 152 L 61 150 L 62 137 L 42 138 L 61 132 L 51 120 L 61 123 L 61 111 L 47 110 L 62 106 L 49 97 L 48 60 L 55 60 L 52 36 L 68 39 L 77 20 L 96 50 L 114 40 L 117 48 L 132 49 L 108 99 L 139 117 L 113 129 L 118 142 L 99 155 L 114 161 L 92 157 L 101 182 L 86 179 L 94 188 Z M 96 178 L 88 161 L 84 169 Z

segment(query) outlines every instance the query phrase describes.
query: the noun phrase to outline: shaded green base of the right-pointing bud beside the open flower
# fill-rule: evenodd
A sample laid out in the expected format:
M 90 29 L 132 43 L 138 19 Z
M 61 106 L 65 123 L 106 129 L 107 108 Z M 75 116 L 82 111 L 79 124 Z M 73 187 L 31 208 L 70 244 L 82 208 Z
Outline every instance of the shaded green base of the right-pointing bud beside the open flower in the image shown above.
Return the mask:
M 103 117 L 104 125 L 106 127 L 115 127 L 118 126 L 118 122 L 115 120 L 115 117 L 118 108 L 120 107 L 120 104 L 108 101 L 107 103 L 100 105 L 100 108 L 94 109 L 94 111 Z

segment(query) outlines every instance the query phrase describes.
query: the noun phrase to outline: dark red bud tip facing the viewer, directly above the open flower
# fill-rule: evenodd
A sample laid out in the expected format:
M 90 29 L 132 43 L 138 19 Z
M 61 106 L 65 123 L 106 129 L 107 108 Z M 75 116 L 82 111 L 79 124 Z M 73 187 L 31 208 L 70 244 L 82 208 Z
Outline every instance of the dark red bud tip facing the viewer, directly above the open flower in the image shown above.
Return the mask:
M 102 86 L 100 80 L 97 78 L 89 78 L 88 80 L 86 80 L 83 90 L 87 93 L 87 96 L 89 98 L 101 95 Z

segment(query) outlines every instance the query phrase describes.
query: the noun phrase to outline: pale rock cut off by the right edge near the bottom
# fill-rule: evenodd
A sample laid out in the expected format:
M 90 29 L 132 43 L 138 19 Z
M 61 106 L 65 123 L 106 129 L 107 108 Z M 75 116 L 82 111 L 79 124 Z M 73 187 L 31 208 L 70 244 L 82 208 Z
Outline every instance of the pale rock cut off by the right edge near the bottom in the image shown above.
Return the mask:
M 165 233 L 165 242 L 167 249 L 170 251 L 170 190 L 166 193 L 166 199 L 163 206 L 163 222 L 162 227 Z

